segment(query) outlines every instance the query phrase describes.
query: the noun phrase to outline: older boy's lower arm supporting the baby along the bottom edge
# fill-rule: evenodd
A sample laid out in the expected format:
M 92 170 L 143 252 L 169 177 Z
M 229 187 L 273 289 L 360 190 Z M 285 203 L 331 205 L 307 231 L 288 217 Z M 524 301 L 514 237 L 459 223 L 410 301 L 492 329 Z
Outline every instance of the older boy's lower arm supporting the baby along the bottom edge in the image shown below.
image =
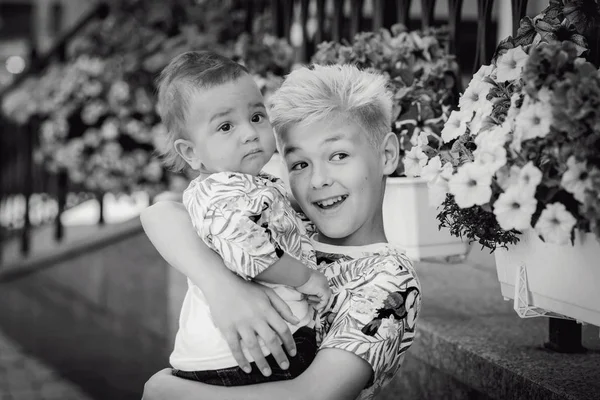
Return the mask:
M 322 349 L 298 378 L 257 385 L 222 387 L 184 380 L 163 370 L 144 387 L 144 400 L 350 400 L 369 381 L 373 370 L 357 355 Z

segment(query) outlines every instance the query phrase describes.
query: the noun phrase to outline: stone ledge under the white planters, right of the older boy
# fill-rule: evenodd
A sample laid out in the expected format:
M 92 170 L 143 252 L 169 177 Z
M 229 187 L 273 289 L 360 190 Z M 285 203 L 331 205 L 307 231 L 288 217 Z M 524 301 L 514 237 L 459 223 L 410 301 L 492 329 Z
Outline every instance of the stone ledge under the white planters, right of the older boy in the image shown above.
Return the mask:
M 502 298 L 493 258 L 477 253 L 457 265 L 417 263 L 424 300 L 411 354 L 491 398 L 598 399 L 598 328 L 584 326 L 585 354 L 545 350 L 547 319 L 519 318 Z

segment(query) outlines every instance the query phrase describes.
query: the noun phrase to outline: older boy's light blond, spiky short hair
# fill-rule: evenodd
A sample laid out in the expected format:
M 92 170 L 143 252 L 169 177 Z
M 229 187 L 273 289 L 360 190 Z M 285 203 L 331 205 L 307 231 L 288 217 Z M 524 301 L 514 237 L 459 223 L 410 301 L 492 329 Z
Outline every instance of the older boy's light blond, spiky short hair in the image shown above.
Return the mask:
M 377 146 L 391 132 L 392 94 L 385 76 L 354 65 L 313 65 L 292 71 L 271 96 L 278 143 L 290 128 L 333 118 L 352 120 Z

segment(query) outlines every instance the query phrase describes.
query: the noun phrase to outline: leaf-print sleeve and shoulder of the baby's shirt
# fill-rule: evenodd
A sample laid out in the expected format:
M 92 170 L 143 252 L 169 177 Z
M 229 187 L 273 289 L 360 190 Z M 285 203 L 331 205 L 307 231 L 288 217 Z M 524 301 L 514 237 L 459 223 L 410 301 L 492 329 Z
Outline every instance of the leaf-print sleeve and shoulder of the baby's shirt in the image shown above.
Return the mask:
M 282 252 L 316 267 L 304 224 L 275 177 L 219 172 L 196 178 L 183 192 L 183 204 L 202 240 L 244 279 L 263 272 Z

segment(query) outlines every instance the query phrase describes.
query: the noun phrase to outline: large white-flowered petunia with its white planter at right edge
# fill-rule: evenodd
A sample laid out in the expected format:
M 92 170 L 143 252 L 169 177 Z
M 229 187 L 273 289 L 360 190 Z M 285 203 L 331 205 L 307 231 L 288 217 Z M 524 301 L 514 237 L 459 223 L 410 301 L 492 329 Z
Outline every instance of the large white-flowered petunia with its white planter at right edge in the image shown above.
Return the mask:
M 417 152 L 438 219 L 495 250 L 521 317 L 600 326 L 600 71 L 582 58 L 594 5 L 590 15 L 553 1 L 523 20 L 473 77 L 443 143 Z

